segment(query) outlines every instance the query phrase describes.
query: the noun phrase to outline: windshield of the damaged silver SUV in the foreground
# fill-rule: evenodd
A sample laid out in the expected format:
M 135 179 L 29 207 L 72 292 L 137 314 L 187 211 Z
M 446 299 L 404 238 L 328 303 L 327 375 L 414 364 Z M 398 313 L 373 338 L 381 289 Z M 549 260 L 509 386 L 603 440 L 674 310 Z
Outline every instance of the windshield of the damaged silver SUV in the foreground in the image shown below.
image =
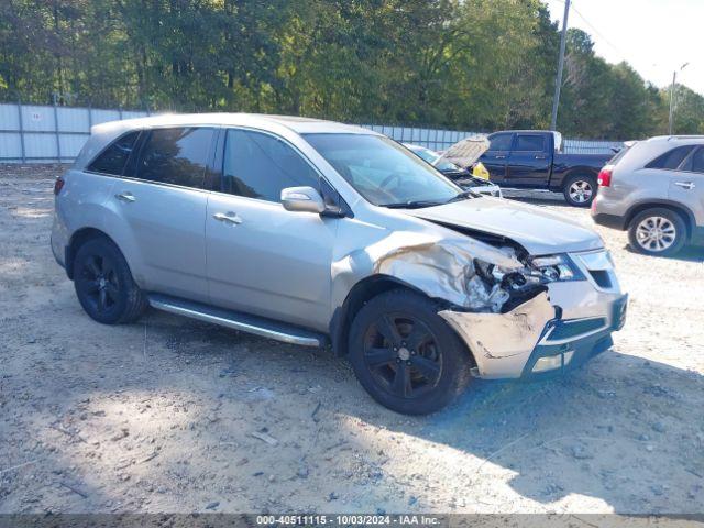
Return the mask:
M 366 134 L 304 134 L 354 189 L 375 206 L 438 205 L 462 191 L 395 141 Z

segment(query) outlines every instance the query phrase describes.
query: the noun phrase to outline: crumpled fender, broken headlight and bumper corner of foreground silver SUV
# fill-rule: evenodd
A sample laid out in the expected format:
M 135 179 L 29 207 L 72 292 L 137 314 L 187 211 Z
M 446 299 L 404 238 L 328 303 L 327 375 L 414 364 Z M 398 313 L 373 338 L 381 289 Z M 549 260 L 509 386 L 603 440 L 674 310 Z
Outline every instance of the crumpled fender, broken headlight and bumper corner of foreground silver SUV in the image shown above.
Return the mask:
M 372 264 L 373 274 L 393 276 L 439 300 L 439 316 L 468 344 L 480 377 L 528 377 L 562 370 L 572 360 L 571 344 L 540 344 L 561 324 L 563 315 L 551 301 L 551 288 L 585 284 L 568 254 L 534 257 L 506 239 L 395 232 L 366 248 L 363 255 L 338 262 L 337 272 L 359 268 L 362 262 Z M 607 338 L 613 329 L 606 330 L 592 336 Z M 610 345 L 610 338 L 587 344 L 588 353 L 601 351 Z

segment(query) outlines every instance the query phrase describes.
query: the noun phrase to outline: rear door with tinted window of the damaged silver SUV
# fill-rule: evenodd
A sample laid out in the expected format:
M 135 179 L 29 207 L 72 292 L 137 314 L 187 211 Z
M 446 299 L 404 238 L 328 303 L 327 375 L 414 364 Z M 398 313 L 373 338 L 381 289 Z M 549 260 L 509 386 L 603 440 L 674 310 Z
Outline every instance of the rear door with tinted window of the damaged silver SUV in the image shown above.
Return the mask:
M 213 129 L 164 128 L 145 132 L 112 204 L 136 251 L 144 289 L 207 301 L 206 166 Z

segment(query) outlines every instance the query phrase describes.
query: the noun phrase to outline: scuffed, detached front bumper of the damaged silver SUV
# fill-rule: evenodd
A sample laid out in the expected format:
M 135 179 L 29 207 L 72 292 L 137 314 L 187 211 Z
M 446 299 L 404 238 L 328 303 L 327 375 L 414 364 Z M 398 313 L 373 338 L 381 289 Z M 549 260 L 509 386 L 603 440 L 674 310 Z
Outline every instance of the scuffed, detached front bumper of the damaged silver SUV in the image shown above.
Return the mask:
M 464 340 L 477 377 L 537 378 L 584 364 L 608 350 L 625 323 L 628 296 L 588 280 L 553 283 L 508 314 L 440 311 Z

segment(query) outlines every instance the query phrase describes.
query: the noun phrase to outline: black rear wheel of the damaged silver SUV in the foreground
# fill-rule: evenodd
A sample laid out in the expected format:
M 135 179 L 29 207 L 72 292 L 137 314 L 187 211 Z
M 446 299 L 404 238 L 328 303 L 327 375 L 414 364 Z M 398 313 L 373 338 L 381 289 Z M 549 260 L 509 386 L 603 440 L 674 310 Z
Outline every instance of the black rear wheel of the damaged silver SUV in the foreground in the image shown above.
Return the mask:
M 74 287 L 86 314 L 103 324 L 134 321 L 147 306 L 124 256 L 103 238 L 89 240 L 76 252 Z

